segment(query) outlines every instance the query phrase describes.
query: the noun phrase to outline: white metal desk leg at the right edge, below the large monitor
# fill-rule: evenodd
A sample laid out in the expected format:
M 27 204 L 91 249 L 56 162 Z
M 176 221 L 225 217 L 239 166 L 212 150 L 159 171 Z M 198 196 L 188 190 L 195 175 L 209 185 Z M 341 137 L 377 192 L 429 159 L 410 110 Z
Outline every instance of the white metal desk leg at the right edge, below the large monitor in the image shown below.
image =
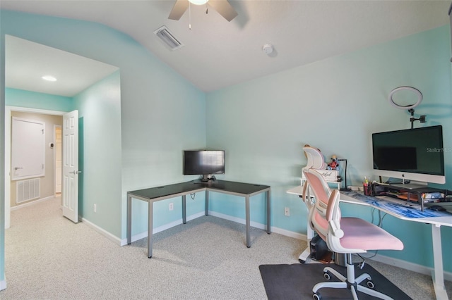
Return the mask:
M 441 225 L 432 224 L 433 245 L 433 286 L 437 300 L 448 300 L 446 288 L 444 287 L 443 273 L 443 251 L 441 249 Z

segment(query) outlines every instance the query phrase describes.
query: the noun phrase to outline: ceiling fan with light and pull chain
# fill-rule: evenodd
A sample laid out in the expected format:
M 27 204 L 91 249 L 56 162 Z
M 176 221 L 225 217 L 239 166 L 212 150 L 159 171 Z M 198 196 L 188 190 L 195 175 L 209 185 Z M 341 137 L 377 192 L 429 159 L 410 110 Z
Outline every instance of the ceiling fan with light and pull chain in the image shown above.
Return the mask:
M 208 4 L 215 8 L 215 11 L 218 11 L 220 15 L 223 16 L 229 22 L 237 17 L 237 11 L 231 6 L 231 4 L 227 0 L 177 0 L 174 4 L 171 13 L 169 13 L 168 18 L 171 20 L 179 20 L 182 15 L 185 13 L 186 9 L 189 8 L 190 4 L 203 5 Z M 206 13 L 208 13 L 206 7 Z

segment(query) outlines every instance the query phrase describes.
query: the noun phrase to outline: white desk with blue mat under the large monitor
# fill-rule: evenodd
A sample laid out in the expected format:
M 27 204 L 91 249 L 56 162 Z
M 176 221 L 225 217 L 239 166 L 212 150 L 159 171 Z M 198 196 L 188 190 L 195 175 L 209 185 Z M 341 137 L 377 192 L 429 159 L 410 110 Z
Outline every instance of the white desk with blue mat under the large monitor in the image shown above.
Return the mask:
M 288 194 L 296 194 L 298 196 L 301 196 L 302 192 L 303 187 L 294 187 L 287 191 Z M 446 215 L 445 213 L 432 211 L 422 212 L 416 208 L 410 208 L 408 206 L 403 206 L 403 211 L 405 213 L 400 213 L 397 211 L 396 206 L 393 205 L 390 201 L 386 201 L 385 199 L 376 197 L 364 196 L 361 194 L 357 194 L 356 192 L 340 192 L 340 201 L 349 204 L 370 206 L 372 208 L 379 209 L 384 213 L 388 213 L 389 215 L 393 215 L 394 217 L 400 220 L 408 220 L 411 222 L 418 222 L 431 225 L 433 260 L 434 260 L 434 270 L 432 272 L 432 280 L 436 294 L 436 299 L 448 300 L 446 289 L 444 287 L 443 255 L 441 250 L 441 226 L 452 227 L 452 215 Z M 411 218 L 410 213 L 415 214 L 416 216 Z M 308 226 L 308 232 L 310 229 L 311 228 Z

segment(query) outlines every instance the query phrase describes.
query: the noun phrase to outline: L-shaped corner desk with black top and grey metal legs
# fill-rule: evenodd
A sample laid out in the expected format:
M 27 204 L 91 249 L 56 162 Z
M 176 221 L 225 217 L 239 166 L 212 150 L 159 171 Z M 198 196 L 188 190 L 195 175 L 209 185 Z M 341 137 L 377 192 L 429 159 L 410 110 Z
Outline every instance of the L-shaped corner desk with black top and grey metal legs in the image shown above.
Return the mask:
M 206 191 L 206 215 L 208 215 L 209 192 L 243 196 L 245 199 L 246 246 L 251 246 L 249 229 L 249 197 L 266 193 L 267 233 L 270 234 L 270 187 L 243 182 L 215 180 L 213 182 L 189 181 L 174 185 L 151 187 L 127 192 L 127 244 L 131 244 L 132 233 L 132 199 L 148 202 L 148 258 L 153 256 L 153 203 L 165 199 L 182 196 L 182 222 L 186 223 L 186 195 Z

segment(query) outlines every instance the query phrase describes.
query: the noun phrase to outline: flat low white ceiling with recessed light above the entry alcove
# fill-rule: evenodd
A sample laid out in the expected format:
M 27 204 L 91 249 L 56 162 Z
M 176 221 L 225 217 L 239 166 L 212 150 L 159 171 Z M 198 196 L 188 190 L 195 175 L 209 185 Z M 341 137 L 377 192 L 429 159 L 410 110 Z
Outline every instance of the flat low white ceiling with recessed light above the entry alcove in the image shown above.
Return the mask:
M 75 96 L 119 68 L 18 37 L 6 36 L 5 85 L 13 89 Z M 42 80 L 51 75 L 56 82 Z

